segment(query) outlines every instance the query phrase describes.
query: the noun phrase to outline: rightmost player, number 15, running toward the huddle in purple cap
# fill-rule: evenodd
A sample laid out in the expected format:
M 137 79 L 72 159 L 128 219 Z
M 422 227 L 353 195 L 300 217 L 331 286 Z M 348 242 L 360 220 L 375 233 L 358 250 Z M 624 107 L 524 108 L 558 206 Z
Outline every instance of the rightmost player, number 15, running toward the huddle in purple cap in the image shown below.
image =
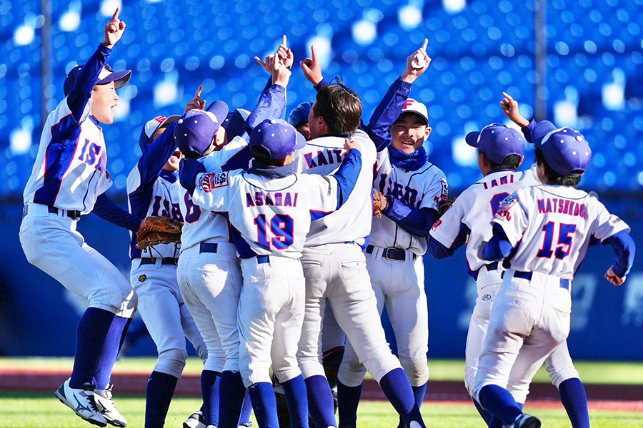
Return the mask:
M 517 358 L 524 358 L 521 374 L 529 382 L 567 338 L 569 287 L 590 243 L 599 240 L 614 248 L 617 258 L 605 274 L 614 285 L 624 282 L 634 259 L 629 226 L 597 198 L 574 188 L 592 157 L 582 134 L 543 121 L 529 137 L 536 145 L 542 184 L 518 189 L 500 203 L 493 236 L 478 250 L 482 260 L 504 258 L 507 270 L 494 301 L 473 395 L 512 428 L 540 427 L 539 419 L 524 414 L 505 387 L 510 372 L 517 370 Z

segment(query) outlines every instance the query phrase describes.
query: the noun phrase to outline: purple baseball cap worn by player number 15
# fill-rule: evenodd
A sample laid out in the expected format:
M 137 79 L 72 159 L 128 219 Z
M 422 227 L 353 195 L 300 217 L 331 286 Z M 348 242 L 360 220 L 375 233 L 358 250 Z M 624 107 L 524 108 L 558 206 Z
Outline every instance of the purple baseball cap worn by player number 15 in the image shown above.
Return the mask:
M 592 149 L 583 134 L 567 126 L 556 128 L 552 122 L 539 122 L 532 129 L 532 140 L 549 166 L 562 176 L 585 171 L 592 161 Z

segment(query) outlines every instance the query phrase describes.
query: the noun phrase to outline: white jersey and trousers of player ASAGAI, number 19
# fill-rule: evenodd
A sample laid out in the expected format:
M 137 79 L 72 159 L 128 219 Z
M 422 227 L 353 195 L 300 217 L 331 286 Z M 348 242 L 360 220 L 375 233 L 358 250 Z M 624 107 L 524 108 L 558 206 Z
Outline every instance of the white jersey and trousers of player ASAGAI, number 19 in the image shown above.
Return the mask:
M 207 177 L 208 175 L 206 175 Z M 291 173 L 279 178 L 243 170 L 209 175 L 193 200 L 224 211 L 235 230 L 244 286 L 239 299 L 239 370 L 246 387 L 299 376 L 297 342 L 304 318 L 304 275 L 299 258 L 311 218 L 338 204 L 334 177 Z M 197 177 L 197 183 L 204 175 Z

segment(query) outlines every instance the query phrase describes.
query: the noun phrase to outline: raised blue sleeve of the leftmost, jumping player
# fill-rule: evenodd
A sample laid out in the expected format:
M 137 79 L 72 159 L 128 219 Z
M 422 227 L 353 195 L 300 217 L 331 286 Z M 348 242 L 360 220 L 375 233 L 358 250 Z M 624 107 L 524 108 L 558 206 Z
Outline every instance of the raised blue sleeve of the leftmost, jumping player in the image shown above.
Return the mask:
M 102 43 L 99 44 L 98 49 L 96 49 L 94 54 L 89 57 L 81 71 L 78 73 L 74 86 L 71 86 L 71 90 L 67 95 L 67 106 L 69 106 L 69 110 L 71 110 L 71 117 L 74 118 L 74 121 L 66 123 L 69 126 L 59 127 L 57 131 L 61 133 L 61 136 L 69 138 L 69 133 L 74 131 L 74 127 L 78 127 L 83 116 L 85 106 L 91 97 L 91 91 L 94 89 L 94 85 L 96 85 L 96 82 L 99 79 L 99 75 L 109 54 L 111 54 L 111 49 Z

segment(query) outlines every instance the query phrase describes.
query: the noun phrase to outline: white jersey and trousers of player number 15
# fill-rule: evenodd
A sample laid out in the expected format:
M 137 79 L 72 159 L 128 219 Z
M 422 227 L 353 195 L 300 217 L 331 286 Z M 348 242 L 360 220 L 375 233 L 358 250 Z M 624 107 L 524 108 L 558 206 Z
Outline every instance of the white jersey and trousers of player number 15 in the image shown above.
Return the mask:
M 514 362 L 530 382 L 545 358 L 569 335 L 571 281 L 592 239 L 629 226 L 583 190 L 534 185 L 516 190 L 493 220 L 514 254 L 494 302 L 473 396 L 487 384 L 506 387 Z M 512 373 L 514 376 L 514 373 Z

